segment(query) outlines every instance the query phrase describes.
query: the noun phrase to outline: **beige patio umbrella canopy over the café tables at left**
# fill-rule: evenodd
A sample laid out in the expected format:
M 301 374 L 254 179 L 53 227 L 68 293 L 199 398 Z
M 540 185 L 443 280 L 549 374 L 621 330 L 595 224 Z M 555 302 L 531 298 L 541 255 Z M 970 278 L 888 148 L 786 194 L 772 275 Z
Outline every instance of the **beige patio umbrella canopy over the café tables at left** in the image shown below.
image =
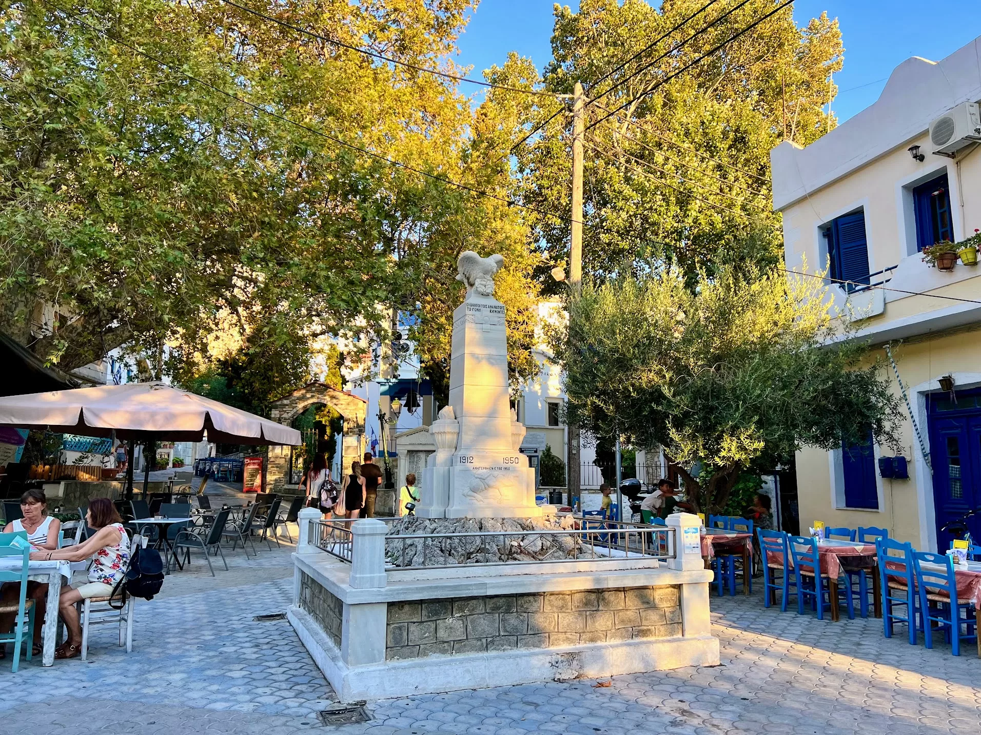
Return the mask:
M 111 436 L 115 432 L 117 438 L 129 439 L 130 443 L 201 441 L 207 432 L 208 441 L 222 444 L 302 444 L 300 432 L 294 428 L 165 383 L 5 396 L 0 398 L 0 426 L 82 436 Z

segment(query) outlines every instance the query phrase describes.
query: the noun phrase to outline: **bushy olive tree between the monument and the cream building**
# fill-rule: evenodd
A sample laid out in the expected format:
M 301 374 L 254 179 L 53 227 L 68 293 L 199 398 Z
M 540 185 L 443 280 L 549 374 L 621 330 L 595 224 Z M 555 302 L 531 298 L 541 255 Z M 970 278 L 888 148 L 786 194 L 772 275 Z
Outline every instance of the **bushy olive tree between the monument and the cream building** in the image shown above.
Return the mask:
M 697 508 L 726 506 L 747 469 L 802 446 L 897 446 L 898 399 L 868 349 L 840 339 L 824 287 L 780 271 L 723 270 L 690 288 L 678 270 L 587 282 L 553 349 L 571 421 L 663 446 Z M 691 476 L 697 462 L 711 471 Z

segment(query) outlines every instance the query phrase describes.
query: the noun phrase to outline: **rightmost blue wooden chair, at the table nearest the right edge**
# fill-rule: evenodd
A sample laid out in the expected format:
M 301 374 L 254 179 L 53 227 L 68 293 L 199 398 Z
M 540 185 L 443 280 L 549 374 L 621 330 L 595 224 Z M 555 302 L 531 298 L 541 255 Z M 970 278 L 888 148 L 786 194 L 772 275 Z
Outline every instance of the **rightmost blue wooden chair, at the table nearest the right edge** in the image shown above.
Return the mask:
M 924 567 L 923 563 L 936 564 L 940 568 Z M 951 644 L 951 652 L 960 656 L 961 639 L 976 641 L 978 631 L 974 628 L 974 603 L 957 599 L 954 560 L 946 554 L 914 551 L 913 569 L 919 590 L 924 644 L 927 648 L 933 648 L 931 623 L 938 622 Z M 963 617 L 960 616 L 961 611 L 964 612 Z M 965 626 L 966 634 L 961 634 L 961 626 Z

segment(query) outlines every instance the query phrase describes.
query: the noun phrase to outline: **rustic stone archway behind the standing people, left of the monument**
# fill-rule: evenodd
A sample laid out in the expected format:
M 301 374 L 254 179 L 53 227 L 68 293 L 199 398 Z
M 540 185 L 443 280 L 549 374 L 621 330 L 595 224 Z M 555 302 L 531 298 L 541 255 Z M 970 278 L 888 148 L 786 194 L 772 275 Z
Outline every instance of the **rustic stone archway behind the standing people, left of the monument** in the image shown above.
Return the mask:
M 360 457 L 364 446 L 365 419 L 368 402 L 351 393 L 313 381 L 274 401 L 271 417 L 288 425 L 295 417 L 316 404 L 324 404 L 344 417 L 344 434 L 340 451 L 342 458 Z M 284 489 L 289 466 L 289 447 L 270 447 L 266 487 L 269 492 Z

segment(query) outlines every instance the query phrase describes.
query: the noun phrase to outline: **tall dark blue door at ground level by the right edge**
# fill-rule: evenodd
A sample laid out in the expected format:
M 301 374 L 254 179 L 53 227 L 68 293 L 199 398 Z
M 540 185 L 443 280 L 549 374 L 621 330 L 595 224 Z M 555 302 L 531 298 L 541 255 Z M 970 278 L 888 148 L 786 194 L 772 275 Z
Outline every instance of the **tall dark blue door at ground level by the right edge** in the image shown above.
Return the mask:
M 957 391 L 928 398 L 930 461 L 933 465 L 933 500 L 937 518 L 937 546 L 951 547 L 954 535 L 944 524 L 981 507 L 981 391 Z M 981 515 L 968 520 L 971 536 L 981 540 Z

